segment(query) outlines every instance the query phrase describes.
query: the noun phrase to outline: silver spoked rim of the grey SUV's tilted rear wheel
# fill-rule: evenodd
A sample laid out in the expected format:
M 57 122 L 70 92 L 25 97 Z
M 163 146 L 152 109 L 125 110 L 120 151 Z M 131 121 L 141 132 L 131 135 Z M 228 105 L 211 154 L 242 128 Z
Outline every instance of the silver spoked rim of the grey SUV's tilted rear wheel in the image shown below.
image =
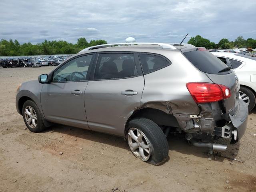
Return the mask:
M 150 158 L 150 142 L 142 131 L 136 128 L 130 128 L 128 130 L 127 140 L 130 150 L 136 157 L 142 161 L 147 161 Z

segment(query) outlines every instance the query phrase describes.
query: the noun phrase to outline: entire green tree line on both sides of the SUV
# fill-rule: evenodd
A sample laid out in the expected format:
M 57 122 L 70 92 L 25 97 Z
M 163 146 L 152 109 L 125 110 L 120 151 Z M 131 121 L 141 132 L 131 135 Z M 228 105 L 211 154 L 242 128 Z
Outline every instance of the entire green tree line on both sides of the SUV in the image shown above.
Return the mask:
M 188 41 L 196 47 L 205 47 L 207 49 L 231 49 L 231 48 L 256 48 L 256 39 L 248 38 L 245 40 L 243 36 L 238 36 L 235 41 L 229 41 L 228 39 L 221 39 L 218 44 L 210 42 L 206 38 L 202 38 L 200 35 L 190 38 Z M 72 44 L 66 41 L 47 41 L 42 43 L 20 44 L 18 40 L 0 40 L 0 56 L 22 56 L 22 55 L 48 55 L 48 54 L 76 54 L 80 50 L 95 46 L 107 44 L 105 40 L 91 40 L 87 42 L 86 38 L 78 38 L 76 44 Z

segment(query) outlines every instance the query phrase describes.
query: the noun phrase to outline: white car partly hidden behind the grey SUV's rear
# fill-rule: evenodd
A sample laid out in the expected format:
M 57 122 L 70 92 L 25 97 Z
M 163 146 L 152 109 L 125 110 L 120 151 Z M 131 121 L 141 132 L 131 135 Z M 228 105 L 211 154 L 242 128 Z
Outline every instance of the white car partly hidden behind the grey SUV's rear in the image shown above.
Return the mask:
M 227 52 L 212 54 L 234 69 L 240 82 L 240 95 L 251 111 L 256 103 L 256 58 Z

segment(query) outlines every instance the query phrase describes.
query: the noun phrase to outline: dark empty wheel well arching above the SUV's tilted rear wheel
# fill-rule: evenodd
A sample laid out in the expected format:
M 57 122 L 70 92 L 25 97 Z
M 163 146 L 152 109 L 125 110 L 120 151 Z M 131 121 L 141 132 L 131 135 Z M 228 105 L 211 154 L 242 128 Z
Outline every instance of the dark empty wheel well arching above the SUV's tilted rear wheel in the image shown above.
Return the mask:
M 167 114 L 161 110 L 154 108 L 143 108 L 135 111 L 126 122 L 125 134 L 128 128 L 128 122 L 134 118 L 147 118 L 155 122 L 157 125 L 179 127 L 176 118 L 172 114 Z

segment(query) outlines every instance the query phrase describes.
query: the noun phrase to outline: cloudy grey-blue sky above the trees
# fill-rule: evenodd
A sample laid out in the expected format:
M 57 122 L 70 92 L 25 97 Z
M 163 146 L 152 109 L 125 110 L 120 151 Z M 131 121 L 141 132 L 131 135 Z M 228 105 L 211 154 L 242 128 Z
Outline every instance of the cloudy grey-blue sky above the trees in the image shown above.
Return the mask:
M 256 38 L 255 10 L 256 0 L 0 0 L 0 39 L 218 43 Z

